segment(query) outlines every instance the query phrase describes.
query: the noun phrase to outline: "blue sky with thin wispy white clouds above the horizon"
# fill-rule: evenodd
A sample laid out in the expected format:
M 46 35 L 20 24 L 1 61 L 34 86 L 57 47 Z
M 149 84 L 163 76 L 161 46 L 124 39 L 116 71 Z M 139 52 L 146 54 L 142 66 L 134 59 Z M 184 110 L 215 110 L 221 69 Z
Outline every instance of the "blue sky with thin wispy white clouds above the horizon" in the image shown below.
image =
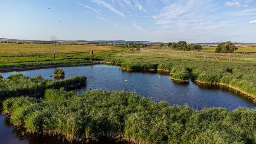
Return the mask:
M 0 38 L 256 43 L 256 0 L 0 0 L 0 14 Z

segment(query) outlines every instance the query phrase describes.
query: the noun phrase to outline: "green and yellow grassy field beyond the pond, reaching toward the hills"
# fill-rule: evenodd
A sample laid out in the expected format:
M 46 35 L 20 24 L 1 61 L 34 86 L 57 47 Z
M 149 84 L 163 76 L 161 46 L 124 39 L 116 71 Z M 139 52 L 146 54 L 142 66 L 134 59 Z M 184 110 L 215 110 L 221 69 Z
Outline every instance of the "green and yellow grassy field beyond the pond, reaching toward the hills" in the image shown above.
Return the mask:
M 56 61 L 52 61 L 49 45 L 0 44 L 0 50 L 0 68 L 106 61 L 120 63 L 126 70 L 171 71 L 175 80 L 194 78 L 201 83 L 228 85 L 256 99 L 256 47 L 252 46 L 239 47 L 239 52 L 247 52 L 244 55 L 170 49 L 132 52 L 108 46 L 58 45 Z

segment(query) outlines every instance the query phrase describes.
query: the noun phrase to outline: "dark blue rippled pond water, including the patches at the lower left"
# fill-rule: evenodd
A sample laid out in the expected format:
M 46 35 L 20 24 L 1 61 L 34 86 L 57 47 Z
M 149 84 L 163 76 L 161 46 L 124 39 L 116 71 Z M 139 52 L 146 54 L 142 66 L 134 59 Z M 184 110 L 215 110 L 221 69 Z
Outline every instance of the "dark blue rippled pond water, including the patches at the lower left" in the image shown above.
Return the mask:
M 245 106 L 254 109 L 251 99 L 237 94 L 228 87 L 215 85 L 199 85 L 193 82 L 178 83 L 170 79 L 168 73 L 143 73 L 119 70 L 119 66 L 93 65 L 76 67 L 59 67 L 66 73 L 65 78 L 73 76 L 86 76 L 85 87 L 76 90 L 78 94 L 92 89 L 133 91 L 140 96 L 149 97 L 153 101 L 166 101 L 169 104 L 188 104 L 193 109 L 206 107 L 223 107 L 229 110 Z M 22 73 L 24 76 L 50 78 L 56 68 L 42 68 L 26 71 L 3 72 L 7 78 L 12 73 Z M 160 77 L 159 77 L 160 76 Z M 125 80 L 128 80 L 126 85 Z M 9 125 L 5 116 L 0 115 L 0 143 L 1 144 L 60 144 L 69 143 L 60 140 L 61 137 L 47 137 L 42 135 L 28 135 L 22 130 L 16 130 Z M 91 144 L 125 144 L 114 140 L 102 139 Z

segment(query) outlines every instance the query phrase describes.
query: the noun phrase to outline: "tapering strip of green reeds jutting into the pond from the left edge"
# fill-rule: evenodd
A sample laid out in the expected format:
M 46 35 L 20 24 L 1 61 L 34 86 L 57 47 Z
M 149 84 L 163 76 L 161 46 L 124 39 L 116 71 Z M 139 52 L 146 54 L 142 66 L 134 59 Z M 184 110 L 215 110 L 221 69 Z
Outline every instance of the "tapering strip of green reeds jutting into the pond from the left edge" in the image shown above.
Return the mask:
M 84 85 L 86 77 L 75 76 L 66 80 L 47 80 L 38 75 L 35 78 L 23 76 L 21 73 L 12 74 L 7 79 L 0 79 L 0 100 L 16 96 L 41 96 L 46 89 L 69 89 Z

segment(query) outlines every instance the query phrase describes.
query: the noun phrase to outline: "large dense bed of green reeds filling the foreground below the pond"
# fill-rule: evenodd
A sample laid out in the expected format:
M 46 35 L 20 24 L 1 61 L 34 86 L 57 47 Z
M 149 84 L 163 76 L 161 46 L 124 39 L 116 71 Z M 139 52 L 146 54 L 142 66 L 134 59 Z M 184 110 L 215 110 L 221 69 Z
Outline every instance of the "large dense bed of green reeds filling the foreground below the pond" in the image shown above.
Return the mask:
M 45 98 L 14 97 L 4 113 L 28 132 L 64 135 L 69 140 L 115 137 L 145 144 L 255 144 L 256 111 L 152 102 L 135 93 L 46 90 Z

